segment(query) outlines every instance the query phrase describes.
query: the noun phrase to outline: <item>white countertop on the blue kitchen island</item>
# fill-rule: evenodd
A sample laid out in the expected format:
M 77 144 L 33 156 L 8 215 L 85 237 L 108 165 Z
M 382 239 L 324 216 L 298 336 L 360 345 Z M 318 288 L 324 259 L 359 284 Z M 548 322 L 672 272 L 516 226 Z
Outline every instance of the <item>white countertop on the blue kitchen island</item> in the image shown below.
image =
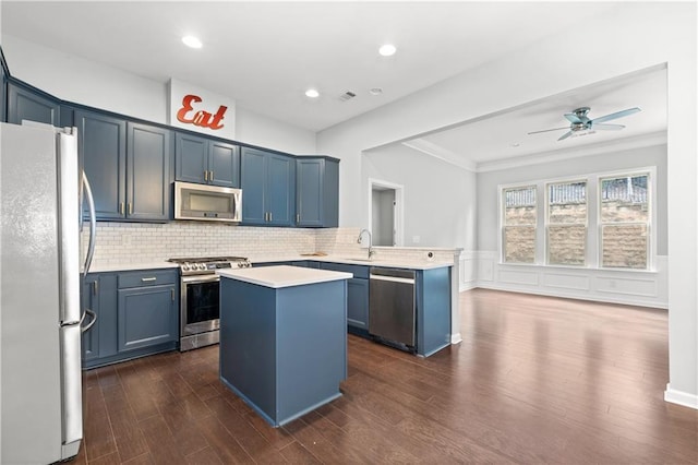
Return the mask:
M 263 266 L 258 269 L 217 270 L 216 273 L 221 277 L 272 288 L 303 286 L 306 284 L 327 283 L 330 281 L 349 279 L 353 277 L 351 273 L 304 269 L 289 265 Z

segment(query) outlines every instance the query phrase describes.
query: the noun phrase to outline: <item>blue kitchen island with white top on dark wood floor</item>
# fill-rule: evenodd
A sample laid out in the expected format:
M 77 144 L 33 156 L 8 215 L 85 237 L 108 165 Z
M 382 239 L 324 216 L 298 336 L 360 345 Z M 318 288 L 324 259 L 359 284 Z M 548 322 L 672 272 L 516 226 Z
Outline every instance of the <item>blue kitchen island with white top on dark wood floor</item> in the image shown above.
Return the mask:
M 274 427 L 341 395 L 350 273 L 221 270 L 220 380 Z

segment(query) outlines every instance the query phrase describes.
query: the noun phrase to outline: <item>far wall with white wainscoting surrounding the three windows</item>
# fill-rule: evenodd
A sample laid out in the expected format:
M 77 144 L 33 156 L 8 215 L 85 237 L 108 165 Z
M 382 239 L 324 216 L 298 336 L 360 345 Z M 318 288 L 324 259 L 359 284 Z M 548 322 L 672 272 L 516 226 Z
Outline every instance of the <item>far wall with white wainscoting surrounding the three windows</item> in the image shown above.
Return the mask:
M 636 168 L 655 167 L 655 218 L 652 233 L 658 257 L 651 271 L 599 270 L 574 266 L 504 264 L 498 250 L 498 189 L 501 184 L 564 179 Z M 667 308 L 667 195 L 666 145 L 615 148 L 590 156 L 512 166 L 478 175 L 478 254 L 474 259 L 478 287 L 520 293 Z M 591 195 L 593 196 L 593 195 Z

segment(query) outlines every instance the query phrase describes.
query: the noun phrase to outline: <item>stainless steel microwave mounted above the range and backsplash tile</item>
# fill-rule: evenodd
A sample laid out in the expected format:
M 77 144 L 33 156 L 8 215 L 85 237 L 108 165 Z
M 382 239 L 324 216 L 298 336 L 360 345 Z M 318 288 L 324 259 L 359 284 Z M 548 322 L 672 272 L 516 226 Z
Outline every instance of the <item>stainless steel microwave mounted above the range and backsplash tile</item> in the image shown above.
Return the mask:
M 240 223 L 242 190 L 176 181 L 174 219 Z

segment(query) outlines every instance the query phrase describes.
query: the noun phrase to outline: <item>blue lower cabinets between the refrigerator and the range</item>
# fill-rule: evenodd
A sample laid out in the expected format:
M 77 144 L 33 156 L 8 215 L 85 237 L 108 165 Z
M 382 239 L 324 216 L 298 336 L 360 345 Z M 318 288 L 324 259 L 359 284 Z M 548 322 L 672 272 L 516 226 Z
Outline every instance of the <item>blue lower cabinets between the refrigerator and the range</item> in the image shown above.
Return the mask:
M 97 322 L 83 333 L 83 368 L 173 350 L 179 342 L 176 270 L 92 273 L 83 282 L 83 307 Z

